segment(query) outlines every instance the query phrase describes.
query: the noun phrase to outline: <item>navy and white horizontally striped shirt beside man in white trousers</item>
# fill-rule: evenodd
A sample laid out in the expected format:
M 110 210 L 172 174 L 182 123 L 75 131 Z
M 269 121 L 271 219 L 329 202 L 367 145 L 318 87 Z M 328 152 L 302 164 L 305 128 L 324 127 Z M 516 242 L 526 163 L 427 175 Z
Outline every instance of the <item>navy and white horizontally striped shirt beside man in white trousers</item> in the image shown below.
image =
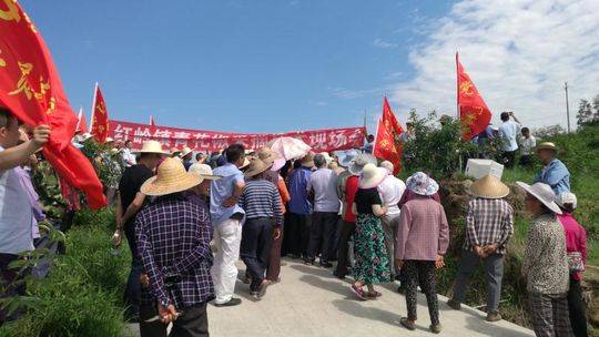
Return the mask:
M 281 195 L 273 183 L 265 180 L 248 181 L 238 204 L 247 218 L 271 217 L 275 226 L 283 226 Z

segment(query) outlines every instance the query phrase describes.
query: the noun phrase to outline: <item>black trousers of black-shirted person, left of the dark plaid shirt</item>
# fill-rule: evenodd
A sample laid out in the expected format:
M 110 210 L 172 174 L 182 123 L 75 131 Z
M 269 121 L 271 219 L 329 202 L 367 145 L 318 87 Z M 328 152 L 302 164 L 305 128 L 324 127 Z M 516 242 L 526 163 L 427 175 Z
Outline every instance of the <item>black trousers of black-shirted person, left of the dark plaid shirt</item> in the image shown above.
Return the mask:
M 128 306 L 129 315 L 138 316 L 140 314 L 141 300 L 140 276 L 143 272 L 143 265 L 140 256 L 138 255 L 135 226 L 133 223 L 125 224 L 124 234 L 126 236 L 126 242 L 129 243 L 129 249 L 131 251 L 131 272 L 129 272 L 129 278 L 126 279 L 124 300 L 125 305 Z

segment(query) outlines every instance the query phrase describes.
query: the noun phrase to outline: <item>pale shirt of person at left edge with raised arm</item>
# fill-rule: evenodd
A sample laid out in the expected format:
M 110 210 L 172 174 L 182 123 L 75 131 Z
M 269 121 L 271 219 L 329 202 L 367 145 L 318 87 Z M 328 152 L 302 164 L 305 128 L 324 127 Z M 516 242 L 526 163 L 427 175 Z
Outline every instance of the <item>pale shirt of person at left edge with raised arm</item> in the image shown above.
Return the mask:
M 4 151 L 0 146 L 0 152 Z M 14 168 L 0 171 L 0 253 L 33 251 L 33 212 Z

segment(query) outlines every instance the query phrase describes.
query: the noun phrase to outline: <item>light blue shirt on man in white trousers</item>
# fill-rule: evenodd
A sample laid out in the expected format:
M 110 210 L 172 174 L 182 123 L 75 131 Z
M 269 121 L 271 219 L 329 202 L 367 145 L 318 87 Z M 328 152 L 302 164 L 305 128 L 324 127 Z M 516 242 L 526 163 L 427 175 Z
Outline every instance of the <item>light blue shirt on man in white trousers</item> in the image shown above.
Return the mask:
M 223 166 L 214 168 L 213 174 L 222 176 L 217 181 L 213 181 L 210 185 L 210 215 L 212 225 L 217 227 L 222 222 L 232 217 L 234 214 L 245 214 L 240 205 L 235 204 L 232 207 L 224 207 L 223 203 L 233 195 L 235 185 L 243 183 L 243 173 L 237 166 L 226 163 Z

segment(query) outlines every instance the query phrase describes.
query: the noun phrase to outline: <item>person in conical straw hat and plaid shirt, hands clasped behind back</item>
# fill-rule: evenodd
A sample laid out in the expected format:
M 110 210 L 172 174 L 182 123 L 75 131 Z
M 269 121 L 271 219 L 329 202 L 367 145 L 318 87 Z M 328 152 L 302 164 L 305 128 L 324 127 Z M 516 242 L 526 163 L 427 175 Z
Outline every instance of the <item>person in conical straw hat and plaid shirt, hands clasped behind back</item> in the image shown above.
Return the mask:
M 509 194 L 509 187 L 490 174 L 476 181 L 470 192 L 475 198 L 468 203 L 464 251 L 459 259 L 454 297 L 447 304 L 456 310 L 460 309 L 469 278 L 481 261 L 487 282 L 487 320 L 497 321 L 501 319 L 498 309 L 504 256 L 514 234 L 514 208 L 504 200 Z

